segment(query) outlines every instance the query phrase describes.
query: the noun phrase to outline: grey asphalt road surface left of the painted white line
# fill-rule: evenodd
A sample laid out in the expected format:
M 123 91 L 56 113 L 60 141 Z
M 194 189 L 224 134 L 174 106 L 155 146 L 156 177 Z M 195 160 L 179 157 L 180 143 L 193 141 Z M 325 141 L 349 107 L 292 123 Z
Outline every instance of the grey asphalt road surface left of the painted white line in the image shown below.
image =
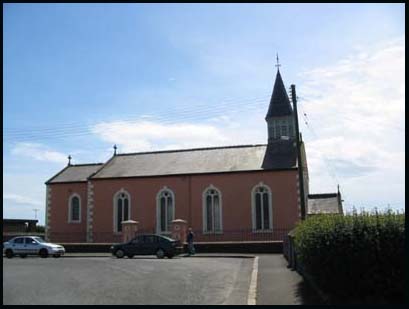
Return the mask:
M 247 304 L 252 258 L 3 258 L 3 304 Z

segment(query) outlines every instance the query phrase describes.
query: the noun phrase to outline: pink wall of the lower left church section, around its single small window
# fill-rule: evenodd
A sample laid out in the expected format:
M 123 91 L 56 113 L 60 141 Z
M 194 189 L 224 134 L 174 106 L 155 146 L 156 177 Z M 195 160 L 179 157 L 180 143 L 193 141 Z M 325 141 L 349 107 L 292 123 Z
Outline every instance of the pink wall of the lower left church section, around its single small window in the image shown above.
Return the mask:
M 85 242 L 87 222 L 87 183 L 51 184 L 50 240 Z M 68 223 L 68 200 L 71 194 L 81 197 L 81 223 Z

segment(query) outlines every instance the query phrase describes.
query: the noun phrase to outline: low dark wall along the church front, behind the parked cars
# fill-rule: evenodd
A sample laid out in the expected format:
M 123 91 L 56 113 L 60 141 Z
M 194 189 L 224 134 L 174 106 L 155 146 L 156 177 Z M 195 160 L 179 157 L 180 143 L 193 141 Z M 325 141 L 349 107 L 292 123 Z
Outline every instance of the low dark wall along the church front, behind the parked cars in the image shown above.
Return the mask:
M 61 243 L 67 253 L 109 252 L 111 243 Z M 195 243 L 197 253 L 283 253 L 282 241 Z M 184 245 L 187 252 L 187 245 Z

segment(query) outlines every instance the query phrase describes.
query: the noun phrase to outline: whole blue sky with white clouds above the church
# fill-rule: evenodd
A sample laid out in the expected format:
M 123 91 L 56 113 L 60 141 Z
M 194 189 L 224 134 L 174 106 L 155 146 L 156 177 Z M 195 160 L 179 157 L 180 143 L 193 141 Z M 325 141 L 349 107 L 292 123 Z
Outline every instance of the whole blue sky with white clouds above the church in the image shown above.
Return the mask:
M 43 223 L 68 154 L 266 142 L 277 52 L 311 191 L 403 209 L 404 20 L 404 4 L 4 4 L 3 216 Z

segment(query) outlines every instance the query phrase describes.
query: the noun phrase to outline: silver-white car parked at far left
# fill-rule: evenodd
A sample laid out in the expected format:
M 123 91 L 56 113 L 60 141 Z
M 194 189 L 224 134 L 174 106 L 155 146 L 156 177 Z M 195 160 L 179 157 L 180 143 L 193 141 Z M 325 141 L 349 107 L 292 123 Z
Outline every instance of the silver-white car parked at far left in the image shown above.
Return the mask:
M 25 258 L 27 255 L 39 255 L 46 258 L 49 255 L 60 257 L 65 253 L 65 248 L 60 245 L 46 242 L 38 236 L 19 236 L 3 243 L 3 253 L 9 259 L 14 255 Z

